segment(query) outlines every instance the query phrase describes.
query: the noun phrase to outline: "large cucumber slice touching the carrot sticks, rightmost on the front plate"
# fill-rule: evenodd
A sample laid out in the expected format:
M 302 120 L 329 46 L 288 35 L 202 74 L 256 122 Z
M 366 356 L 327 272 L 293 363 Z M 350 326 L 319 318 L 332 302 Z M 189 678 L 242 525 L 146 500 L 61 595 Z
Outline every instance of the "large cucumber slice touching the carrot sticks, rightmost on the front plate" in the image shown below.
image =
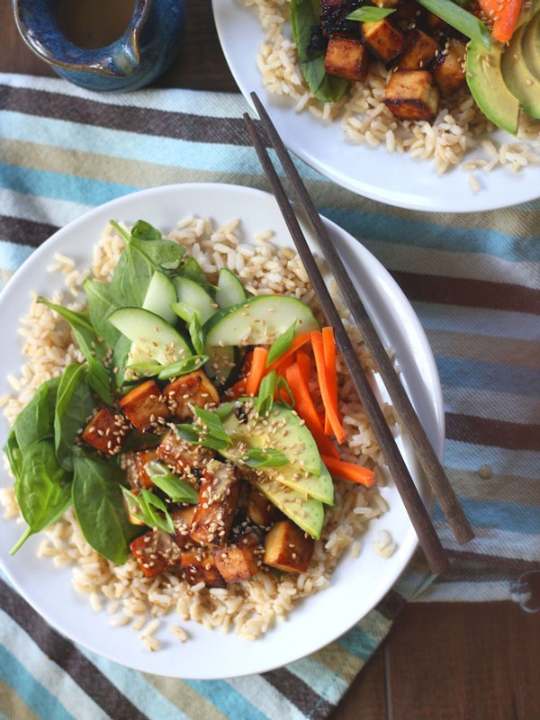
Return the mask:
M 297 320 L 295 335 L 319 329 L 311 309 L 286 295 L 257 295 L 226 308 L 204 324 L 207 346 L 272 345 Z

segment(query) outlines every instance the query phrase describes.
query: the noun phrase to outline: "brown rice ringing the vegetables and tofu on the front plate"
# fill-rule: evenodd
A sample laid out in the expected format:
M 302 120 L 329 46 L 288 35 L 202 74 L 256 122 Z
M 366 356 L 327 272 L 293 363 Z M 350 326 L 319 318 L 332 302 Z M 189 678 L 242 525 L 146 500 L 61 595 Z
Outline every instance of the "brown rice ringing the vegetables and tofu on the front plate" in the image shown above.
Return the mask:
M 241 242 L 240 230 L 238 220 L 214 229 L 210 220 L 186 218 L 169 237 L 187 248 L 211 280 L 215 280 L 220 267 L 228 266 L 250 293 L 287 293 L 313 305 L 313 291 L 299 257 L 289 248 L 273 246 L 269 242 L 271 233 L 261 233 L 253 244 Z M 91 275 L 109 280 L 122 247 L 123 240 L 108 227 L 94 248 Z M 70 307 L 80 308 L 84 297 L 79 293 L 80 286 L 88 272 L 77 273 L 70 259 L 60 256 L 52 269 L 63 272 L 67 284 L 67 292 L 55 293 L 54 302 L 67 304 L 69 299 Z M 14 394 L 0 403 L 12 423 L 44 380 L 60 374 L 67 364 L 83 359 L 67 324 L 42 304 L 32 302 L 28 317 L 22 321 L 21 333 L 23 355 L 28 360 L 20 377 L 11 380 Z M 359 338 L 356 342 L 367 365 L 369 357 Z M 381 454 L 372 429 L 341 364 L 338 373 L 340 410 L 348 441 L 344 455 L 374 467 L 382 479 Z M 393 421 L 392 409 L 385 411 Z M 353 557 L 370 552 L 362 547 L 359 538 L 369 520 L 385 512 L 386 502 L 376 488 L 367 490 L 350 482 L 335 482 L 335 487 L 336 505 L 327 509 L 323 535 L 316 543 L 311 565 L 300 575 L 283 573 L 278 577 L 273 572 L 259 572 L 252 580 L 224 590 L 202 584 L 190 586 L 173 572 L 148 579 L 132 556 L 119 566 L 96 554 L 85 542 L 72 509 L 43 533 L 39 554 L 55 564 L 70 565 L 74 587 L 88 596 L 94 611 L 108 614 L 111 626 L 130 625 L 149 651 L 159 648 L 156 632 L 161 618 L 167 615 L 169 629 L 181 643 L 188 638 L 181 624 L 188 620 L 255 639 L 273 626 L 277 618 L 285 617 L 299 599 L 328 587 L 333 568 L 349 548 Z M 19 516 L 13 490 L 0 491 L 0 503 L 5 518 Z M 375 552 L 388 555 L 393 547 L 392 538 L 383 536 Z

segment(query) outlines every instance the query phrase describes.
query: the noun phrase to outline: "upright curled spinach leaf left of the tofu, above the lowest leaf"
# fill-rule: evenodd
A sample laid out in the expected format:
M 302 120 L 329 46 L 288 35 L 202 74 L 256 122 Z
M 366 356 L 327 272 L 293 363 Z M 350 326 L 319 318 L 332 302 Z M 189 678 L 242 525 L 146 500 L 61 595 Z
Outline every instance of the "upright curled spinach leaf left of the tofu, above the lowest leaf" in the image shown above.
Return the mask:
M 58 387 L 54 438 L 58 464 L 69 473 L 73 471 L 76 437 L 94 407 L 94 393 L 88 384 L 88 366 L 67 365 Z

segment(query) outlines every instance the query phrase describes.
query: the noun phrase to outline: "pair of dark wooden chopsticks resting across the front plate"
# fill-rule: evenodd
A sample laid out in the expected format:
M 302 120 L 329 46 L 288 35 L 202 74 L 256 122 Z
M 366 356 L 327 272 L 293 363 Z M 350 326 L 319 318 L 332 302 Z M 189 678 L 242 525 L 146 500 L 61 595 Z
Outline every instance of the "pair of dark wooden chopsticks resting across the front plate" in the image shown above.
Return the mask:
M 293 186 L 297 201 L 305 211 L 311 229 L 319 240 L 320 247 L 329 268 L 336 278 L 352 317 L 356 320 L 362 332 L 365 346 L 374 357 L 379 374 L 392 399 L 394 408 L 397 410 L 401 418 L 401 423 L 410 436 L 419 463 L 422 465 L 428 477 L 428 481 L 439 501 L 441 509 L 445 513 L 448 524 L 452 527 L 456 540 L 460 544 L 464 544 L 473 538 L 473 528 L 465 517 L 464 510 L 459 500 L 457 500 L 450 482 L 446 478 L 444 468 L 429 442 L 426 431 L 422 427 L 419 417 L 412 407 L 409 396 L 407 392 L 405 392 L 398 374 L 392 365 L 392 361 L 383 347 L 383 342 L 381 338 L 379 338 L 365 310 L 364 303 L 361 301 L 358 293 L 356 293 L 356 288 L 347 273 L 347 269 L 328 236 L 327 230 L 320 219 L 319 212 L 316 210 L 310 194 L 284 146 L 283 140 L 280 138 L 277 130 L 275 130 L 275 126 L 270 120 L 265 107 L 257 97 L 257 94 L 252 93 L 251 98 L 255 104 L 260 125 L 266 131 L 267 139 L 275 149 L 277 157 L 279 157 L 284 171 Z M 446 552 L 437 536 L 437 532 L 422 502 L 419 491 L 410 476 L 409 469 L 396 445 L 392 430 L 389 428 L 383 416 L 383 410 L 381 410 L 374 391 L 356 356 L 355 347 L 347 334 L 347 330 L 334 305 L 329 289 L 320 274 L 319 267 L 304 237 L 300 223 L 296 218 L 293 205 L 275 171 L 275 167 L 266 149 L 266 142 L 261 138 L 256 123 L 247 113 L 244 114 L 244 121 L 253 146 L 257 150 L 257 155 L 265 171 L 266 178 L 293 237 L 296 249 L 302 258 L 302 263 L 310 277 L 313 289 L 319 298 L 322 311 L 328 324 L 334 329 L 339 351 L 347 365 L 347 370 L 355 385 L 356 392 L 362 401 L 367 418 L 372 428 L 374 428 L 374 435 L 383 451 L 386 464 L 392 473 L 396 487 L 400 492 L 401 500 L 419 538 L 419 544 L 426 554 L 429 567 L 432 572 L 444 572 L 449 567 Z

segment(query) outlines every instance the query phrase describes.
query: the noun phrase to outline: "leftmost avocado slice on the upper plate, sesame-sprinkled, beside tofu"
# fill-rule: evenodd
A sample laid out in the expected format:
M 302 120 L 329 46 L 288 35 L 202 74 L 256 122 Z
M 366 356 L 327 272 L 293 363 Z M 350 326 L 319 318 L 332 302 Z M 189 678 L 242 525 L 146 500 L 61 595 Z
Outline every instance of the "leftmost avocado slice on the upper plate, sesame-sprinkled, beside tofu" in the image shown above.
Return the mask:
M 509 91 L 501 72 L 505 46 L 491 40 L 491 48 L 471 40 L 465 59 L 465 76 L 471 94 L 484 115 L 502 130 L 518 134 L 519 102 Z

